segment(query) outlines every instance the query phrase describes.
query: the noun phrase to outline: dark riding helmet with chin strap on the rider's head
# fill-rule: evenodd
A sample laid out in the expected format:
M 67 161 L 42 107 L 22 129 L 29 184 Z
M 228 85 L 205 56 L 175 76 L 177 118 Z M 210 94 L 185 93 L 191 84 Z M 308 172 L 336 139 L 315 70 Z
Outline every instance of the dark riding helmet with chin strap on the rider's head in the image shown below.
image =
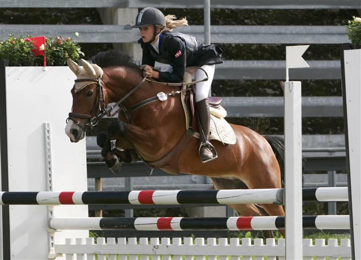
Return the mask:
M 131 28 L 141 28 L 143 26 L 154 25 L 154 36 L 150 42 L 153 42 L 155 37 L 158 35 L 156 25 L 160 24 L 166 26 L 166 19 L 164 14 L 154 7 L 146 7 L 142 9 L 135 18 L 135 24 Z

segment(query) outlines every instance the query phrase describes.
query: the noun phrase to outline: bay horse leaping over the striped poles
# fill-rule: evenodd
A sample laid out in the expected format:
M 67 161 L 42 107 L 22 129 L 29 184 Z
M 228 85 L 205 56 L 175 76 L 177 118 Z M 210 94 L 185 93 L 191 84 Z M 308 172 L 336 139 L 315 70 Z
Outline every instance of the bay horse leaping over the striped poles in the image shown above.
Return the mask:
M 160 92 L 174 93 L 180 88 L 144 81 L 142 70 L 129 56 L 120 52 L 101 52 L 93 62 L 100 67 L 85 60 L 82 60 L 83 66 L 68 60 L 70 69 L 77 75 L 71 90 L 72 111 L 65 128 L 70 141 L 78 142 L 84 138 L 86 126 L 96 124 L 96 115 L 102 111 L 104 115 L 107 104 L 122 99 L 120 106 L 123 110 L 119 112 L 116 126 L 113 124 L 109 128 L 107 142 L 116 139 L 117 148 L 136 151 L 150 165 L 166 157 L 186 131 L 180 95 L 129 111 L 135 104 L 156 97 Z M 281 170 L 276 156 L 281 163 L 283 143 L 271 137 L 266 139 L 241 125 L 231 124 L 231 127 L 236 135 L 236 144 L 223 145 L 211 141 L 218 152 L 217 159 L 202 163 L 198 157 L 198 140 L 190 137 L 183 142 L 176 164 L 160 168 L 173 174 L 182 172 L 209 176 L 216 190 L 281 188 Z M 102 155 L 108 162 L 119 161 L 119 157 L 109 150 Z M 229 206 L 242 216 L 285 214 L 281 205 Z M 266 237 L 272 236 L 267 231 L 264 233 Z

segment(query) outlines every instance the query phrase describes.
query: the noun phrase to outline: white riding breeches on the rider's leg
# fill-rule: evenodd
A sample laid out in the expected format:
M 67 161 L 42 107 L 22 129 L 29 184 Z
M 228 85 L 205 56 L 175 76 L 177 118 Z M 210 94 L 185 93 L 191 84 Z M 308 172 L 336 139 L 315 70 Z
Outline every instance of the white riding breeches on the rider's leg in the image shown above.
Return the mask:
M 209 97 L 209 90 L 210 90 L 211 85 L 212 85 L 215 65 L 203 65 L 201 68 L 204 69 L 207 72 L 208 80 L 199 82 L 199 83 L 195 84 L 195 86 L 193 87 L 193 90 L 194 90 L 194 93 L 195 93 L 195 102 L 204 100 L 205 98 Z M 172 72 L 173 67 L 168 66 L 165 69 L 165 71 Z M 203 70 L 198 69 L 195 72 L 195 80 L 202 80 L 205 77 L 206 77 L 206 75 L 204 74 Z

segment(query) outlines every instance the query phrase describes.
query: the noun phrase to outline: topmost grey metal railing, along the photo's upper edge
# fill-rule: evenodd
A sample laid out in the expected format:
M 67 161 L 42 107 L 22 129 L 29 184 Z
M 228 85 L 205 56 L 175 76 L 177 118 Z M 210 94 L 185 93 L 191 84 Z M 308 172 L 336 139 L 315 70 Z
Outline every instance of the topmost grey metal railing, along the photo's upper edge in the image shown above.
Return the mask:
M 0 0 L 5 8 L 203 8 L 203 0 Z M 212 0 L 211 8 L 361 9 L 359 0 Z

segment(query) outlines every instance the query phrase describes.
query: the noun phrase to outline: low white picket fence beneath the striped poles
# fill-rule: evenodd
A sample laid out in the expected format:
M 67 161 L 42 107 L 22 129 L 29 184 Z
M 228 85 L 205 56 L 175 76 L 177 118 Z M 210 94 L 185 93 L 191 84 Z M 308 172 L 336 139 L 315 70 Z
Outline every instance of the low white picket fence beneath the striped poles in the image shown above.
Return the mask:
M 349 239 L 328 239 L 327 245 L 324 239 L 316 239 L 315 245 L 312 239 L 303 239 L 303 260 L 324 259 L 349 260 L 351 259 L 351 246 Z M 55 245 L 56 253 L 65 254 L 66 260 L 285 260 L 285 239 L 274 238 L 254 239 L 250 238 L 97 238 L 94 244 L 93 238 L 66 239 L 65 245 Z M 136 254 L 134 254 L 136 253 Z M 219 258 L 218 258 L 219 257 Z M 253 258 L 254 257 L 254 258 Z M 321 258 L 320 258 L 321 257 Z

